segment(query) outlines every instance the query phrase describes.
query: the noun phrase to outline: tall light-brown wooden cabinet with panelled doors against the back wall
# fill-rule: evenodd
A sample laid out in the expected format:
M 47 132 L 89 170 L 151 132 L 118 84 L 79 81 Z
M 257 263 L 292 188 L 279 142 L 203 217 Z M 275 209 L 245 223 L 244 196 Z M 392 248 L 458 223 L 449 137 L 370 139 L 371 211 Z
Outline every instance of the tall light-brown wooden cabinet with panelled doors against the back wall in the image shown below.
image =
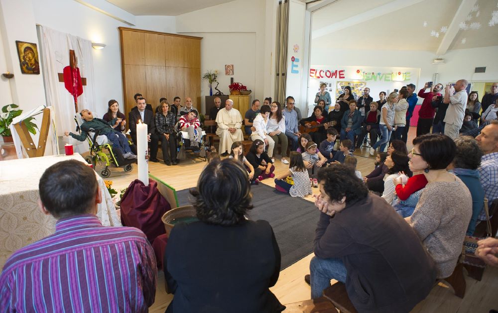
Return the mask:
M 169 103 L 191 97 L 201 106 L 201 37 L 119 27 L 123 75 L 124 114 L 141 93 L 153 108 L 165 97 Z

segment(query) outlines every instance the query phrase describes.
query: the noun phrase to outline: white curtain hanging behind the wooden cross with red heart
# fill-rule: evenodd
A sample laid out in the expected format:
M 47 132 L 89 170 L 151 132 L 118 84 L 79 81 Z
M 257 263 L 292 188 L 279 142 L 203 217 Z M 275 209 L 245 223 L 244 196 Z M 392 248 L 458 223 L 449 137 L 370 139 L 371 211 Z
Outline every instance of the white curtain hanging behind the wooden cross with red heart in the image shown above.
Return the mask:
M 45 26 L 37 27 L 45 95 L 47 106 L 55 108 L 56 134 L 64 136 L 65 131 L 76 133 L 74 98 L 66 90 L 64 83 L 59 82 L 58 73 L 62 73 L 64 67 L 69 66 L 69 50 L 74 50 L 78 58 L 80 75 L 87 79 L 87 85 L 83 86 L 83 94 L 78 97 L 78 110 L 88 109 L 96 112 L 92 42 Z M 86 142 L 79 142 L 71 137 L 67 141 L 74 146 L 75 152 L 88 151 Z

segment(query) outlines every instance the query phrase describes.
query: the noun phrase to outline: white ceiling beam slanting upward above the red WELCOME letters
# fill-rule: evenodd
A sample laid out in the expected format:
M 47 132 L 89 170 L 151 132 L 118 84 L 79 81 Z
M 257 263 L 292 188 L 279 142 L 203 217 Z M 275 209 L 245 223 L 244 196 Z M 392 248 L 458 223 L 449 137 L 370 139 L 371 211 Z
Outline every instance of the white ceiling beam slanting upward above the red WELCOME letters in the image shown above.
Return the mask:
M 348 27 L 351 27 L 353 25 L 363 23 L 365 21 L 380 17 L 385 14 L 389 14 L 391 12 L 403 9 L 405 7 L 417 4 L 419 2 L 422 2 L 424 0 L 394 0 L 389 3 L 386 3 L 384 5 L 377 6 L 369 11 L 348 17 L 344 20 L 341 20 L 339 22 L 330 24 L 325 27 L 318 28 L 312 32 L 312 38 L 318 38 L 333 32 L 336 32 L 341 29 L 345 29 Z

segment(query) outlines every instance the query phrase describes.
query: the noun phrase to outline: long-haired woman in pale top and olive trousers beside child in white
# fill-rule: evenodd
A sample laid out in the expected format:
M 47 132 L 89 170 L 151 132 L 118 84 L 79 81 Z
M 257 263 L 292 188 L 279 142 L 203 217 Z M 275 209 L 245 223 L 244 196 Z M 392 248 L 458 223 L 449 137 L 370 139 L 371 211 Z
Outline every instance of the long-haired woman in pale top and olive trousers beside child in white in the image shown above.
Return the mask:
M 268 118 L 268 123 L 266 124 L 266 133 L 271 137 L 271 139 L 275 142 L 274 145 L 280 143 L 282 148 L 282 163 L 289 164 L 287 160 L 287 145 L 288 139 L 285 136 L 285 117 L 282 114 L 282 106 L 279 102 L 273 101 L 270 105 L 270 117 Z M 273 158 L 273 149 L 268 149 L 268 157 L 271 157 L 271 160 L 274 162 Z

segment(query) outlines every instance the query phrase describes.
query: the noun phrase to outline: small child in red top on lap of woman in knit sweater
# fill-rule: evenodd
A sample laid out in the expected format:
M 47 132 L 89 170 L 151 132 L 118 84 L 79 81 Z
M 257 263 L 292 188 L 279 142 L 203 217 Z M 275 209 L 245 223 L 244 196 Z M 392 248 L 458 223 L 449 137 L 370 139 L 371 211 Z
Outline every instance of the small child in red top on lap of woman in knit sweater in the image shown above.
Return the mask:
M 394 178 L 392 182 L 394 183 L 395 196 L 397 197 L 393 205 L 394 210 L 402 217 L 411 216 L 425 185 L 427 185 L 427 178 L 421 171 L 413 172 L 413 176 L 410 178 L 407 178 L 404 172 L 401 172 L 401 175 Z

